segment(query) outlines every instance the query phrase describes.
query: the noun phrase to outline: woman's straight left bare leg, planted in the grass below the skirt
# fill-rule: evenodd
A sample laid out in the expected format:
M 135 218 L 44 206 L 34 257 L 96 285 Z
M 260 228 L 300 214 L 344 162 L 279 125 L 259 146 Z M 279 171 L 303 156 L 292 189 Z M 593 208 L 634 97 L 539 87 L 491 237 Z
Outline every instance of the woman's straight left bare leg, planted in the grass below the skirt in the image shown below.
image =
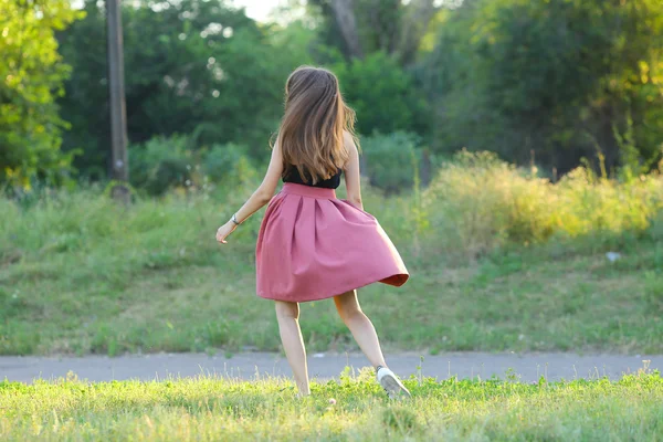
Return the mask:
M 306 349 L 299 329 L 299 304 L 276 301 L 276 319 L 287 362 L 293 370 L 299 396 L 311 394 Z

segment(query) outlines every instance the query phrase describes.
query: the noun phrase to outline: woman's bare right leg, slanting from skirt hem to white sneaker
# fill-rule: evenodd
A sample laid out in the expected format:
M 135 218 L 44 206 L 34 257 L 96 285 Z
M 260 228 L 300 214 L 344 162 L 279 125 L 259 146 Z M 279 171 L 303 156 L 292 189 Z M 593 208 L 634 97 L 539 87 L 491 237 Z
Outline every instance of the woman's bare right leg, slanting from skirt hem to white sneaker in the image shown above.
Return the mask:
M 357 291 L 335 296 L 334 303 L 336 303 L 338 315 L 352 333 L 355 340 L 359 344 L 359 348 L 361 348 L 370 364 L 375 368 L 387 367 L 378 334 L 368 316 L 361 312 L 357 299 Z

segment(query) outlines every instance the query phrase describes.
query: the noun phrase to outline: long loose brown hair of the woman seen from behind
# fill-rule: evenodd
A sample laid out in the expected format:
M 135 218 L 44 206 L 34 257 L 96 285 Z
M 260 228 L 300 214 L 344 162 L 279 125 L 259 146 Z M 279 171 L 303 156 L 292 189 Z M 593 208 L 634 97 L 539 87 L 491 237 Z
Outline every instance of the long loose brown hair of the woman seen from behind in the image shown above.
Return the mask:
M 313 183 L 330 178 L 348 161 L 344 131 L 355 135 L 355 112 L 340 95 L 332 72 L 301 66 L 285 84 L 285 114 L 277 143 L 283 156 L 283 175 L 296 168 Z

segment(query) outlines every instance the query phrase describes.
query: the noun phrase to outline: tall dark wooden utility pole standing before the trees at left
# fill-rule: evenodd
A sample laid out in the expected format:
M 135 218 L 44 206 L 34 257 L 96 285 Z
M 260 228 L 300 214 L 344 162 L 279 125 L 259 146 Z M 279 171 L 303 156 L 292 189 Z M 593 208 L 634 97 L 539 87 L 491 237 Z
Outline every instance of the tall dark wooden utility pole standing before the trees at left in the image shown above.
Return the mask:
M 124 54 L 122 39 L 120 0 L 106 0 L 108 42 L 108 94 L 110 99 L 110 144 L 113 150 L 112 177 L 116 181 L 113 197 L 129 202 L 127 158 L 127 114 L 124 92 Z

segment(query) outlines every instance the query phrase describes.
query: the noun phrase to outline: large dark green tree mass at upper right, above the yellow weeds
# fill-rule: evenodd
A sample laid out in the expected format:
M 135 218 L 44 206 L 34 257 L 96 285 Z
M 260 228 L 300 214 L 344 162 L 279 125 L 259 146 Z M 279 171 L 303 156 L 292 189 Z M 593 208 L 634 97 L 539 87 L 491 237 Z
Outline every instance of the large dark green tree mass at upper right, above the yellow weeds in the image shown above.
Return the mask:
M 520 164 L 534 150 L 561 171 L 597 151 L 608 170 L 660 158 L 661 48 L 655 0 L 467 1 L 446 13 L 422 67 L 439 146 Z M 622 155 L 631 126 L 636 151 Z

